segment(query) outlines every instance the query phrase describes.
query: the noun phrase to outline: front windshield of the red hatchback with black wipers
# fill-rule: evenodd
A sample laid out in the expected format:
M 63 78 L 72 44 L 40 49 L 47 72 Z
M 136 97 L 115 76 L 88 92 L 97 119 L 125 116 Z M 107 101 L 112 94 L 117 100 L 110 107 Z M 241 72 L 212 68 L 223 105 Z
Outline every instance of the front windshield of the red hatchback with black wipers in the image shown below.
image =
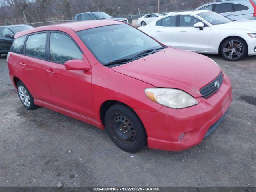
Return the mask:
M 127 24 L 97 27 L 76 33 L 104 66 L 132 62 L 165 48 Z

